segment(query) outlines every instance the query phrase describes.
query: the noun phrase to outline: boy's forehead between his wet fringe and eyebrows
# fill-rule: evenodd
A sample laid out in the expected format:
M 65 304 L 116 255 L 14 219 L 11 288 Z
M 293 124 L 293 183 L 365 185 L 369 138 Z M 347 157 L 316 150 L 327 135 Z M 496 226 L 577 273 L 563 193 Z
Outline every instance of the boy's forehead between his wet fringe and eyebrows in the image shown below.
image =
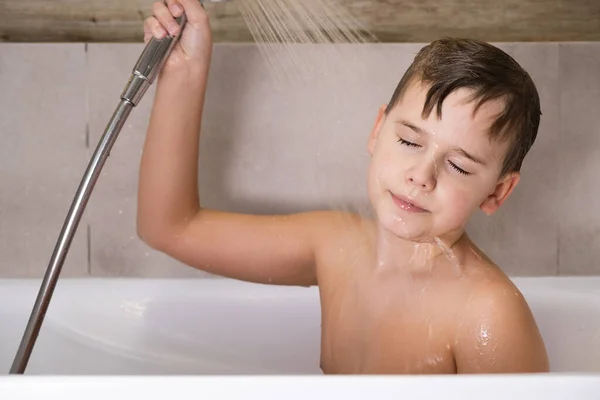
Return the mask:
M 413 83 L 407 87 L 394 107 L 396 116 L 419 124 L 439 136 L 440 140 L 449 140 L 455 145 L 477 143 L 479 147 L 489 147 L 489 151 L 494 153 L 505 150 L 506 143 L 492 141 L 489 135 L 490 127 L 504 110 L 505 104 L 502 100 L 488 101 L 474 112 L 476 101 L 472 100 L 473 90 L 461 88 L 444 99 L 441 118 L 438 118 L 437 107 L 434 107 L 429 116 L 423 119 L 422 112 L 428 89 L 428 85 L 421 83 Z

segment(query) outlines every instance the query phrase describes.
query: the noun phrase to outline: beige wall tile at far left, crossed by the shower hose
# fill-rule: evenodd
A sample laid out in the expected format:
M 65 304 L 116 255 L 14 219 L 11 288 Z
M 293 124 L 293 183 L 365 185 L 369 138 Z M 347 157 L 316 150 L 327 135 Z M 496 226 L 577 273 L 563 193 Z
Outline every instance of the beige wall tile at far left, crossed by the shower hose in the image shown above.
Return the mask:
M 0 276 L 43 276 L 87 161 L 84 45 L 0 44 Z M 87 274 L 84 215 L 61 276 Z

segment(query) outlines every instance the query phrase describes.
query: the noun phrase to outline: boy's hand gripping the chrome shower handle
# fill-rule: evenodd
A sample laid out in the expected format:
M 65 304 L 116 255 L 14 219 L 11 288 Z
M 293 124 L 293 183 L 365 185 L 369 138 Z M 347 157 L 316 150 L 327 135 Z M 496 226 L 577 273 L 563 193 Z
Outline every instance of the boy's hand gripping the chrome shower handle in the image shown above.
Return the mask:
M 212 35 L 208 14 L 198 0 L 166 0 L 153 5 L 152 17 L 144 21 L 144 43 L 152 37 L 181 34 L 163 69 L 205 67 L 210 64 Z M 185 13 L 187 23 L 181 28 L 175 18 Z

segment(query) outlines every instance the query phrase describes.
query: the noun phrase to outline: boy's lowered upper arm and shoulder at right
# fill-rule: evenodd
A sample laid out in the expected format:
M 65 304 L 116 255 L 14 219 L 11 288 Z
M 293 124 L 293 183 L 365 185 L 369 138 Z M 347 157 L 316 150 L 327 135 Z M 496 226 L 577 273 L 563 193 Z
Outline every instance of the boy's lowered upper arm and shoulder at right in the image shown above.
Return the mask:
M 458 324 L 458 373 L 547 372 L 546 348 L 527 301 L 499 269 L 482 268 L 469 283 Z

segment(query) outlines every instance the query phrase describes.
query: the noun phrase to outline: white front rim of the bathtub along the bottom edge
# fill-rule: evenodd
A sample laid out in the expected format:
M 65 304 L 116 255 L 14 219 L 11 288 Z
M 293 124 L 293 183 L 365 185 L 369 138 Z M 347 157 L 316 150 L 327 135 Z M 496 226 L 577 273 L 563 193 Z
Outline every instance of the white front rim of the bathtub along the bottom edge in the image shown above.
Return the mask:
M 345 400 L 403 397 L 486 400 L 532 398 L 597 399 L 600 373 L 410 376 L 0 376 L 0 396 L 62 400 L 141 398 L 306 399 L 343 396 Z M 485 392 L 483 392 L 485 391 Z M 188 393 L 187 396 L 184 395 Z M 42 397 L 43 396 L 43 397 Z M 243 396 L 243 397 L 242 397 Z M 403 396 L 403 397 L 400 397 Z M 443 397 L 440 397 L 443 396 Z M 543 397 L 541 397 L 543 396 Z

